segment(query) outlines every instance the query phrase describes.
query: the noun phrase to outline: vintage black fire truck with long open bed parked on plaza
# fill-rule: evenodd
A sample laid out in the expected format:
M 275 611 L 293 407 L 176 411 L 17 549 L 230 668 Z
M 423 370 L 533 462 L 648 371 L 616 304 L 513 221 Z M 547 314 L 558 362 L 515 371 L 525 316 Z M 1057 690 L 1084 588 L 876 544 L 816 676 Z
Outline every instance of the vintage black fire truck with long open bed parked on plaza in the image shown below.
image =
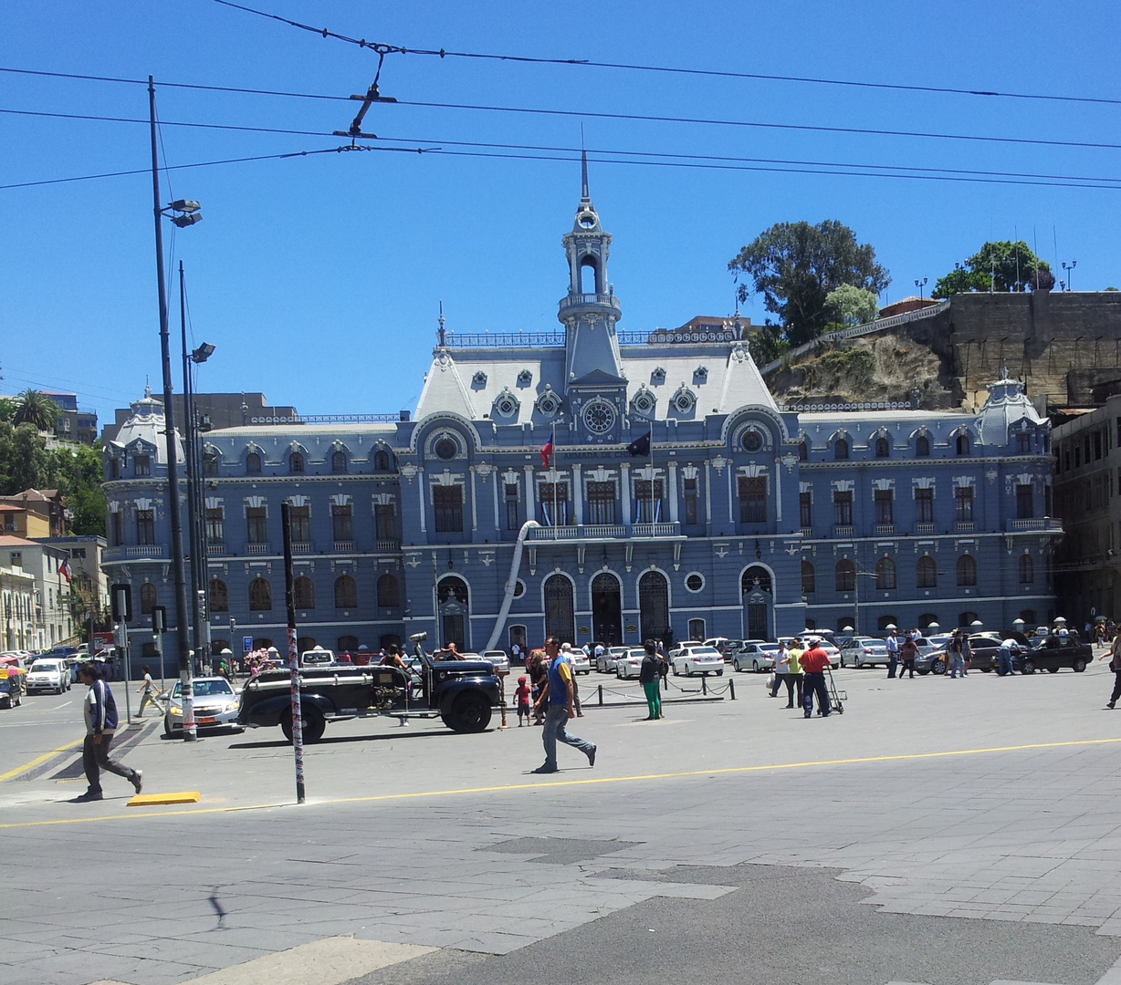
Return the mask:
M 437 660 L 410 636 L 416 659 L 397 667 L 328 665 L 299 671 L 300 718 L 305 742 L 323 737 L 328 722 L 386 716 L 439 717 L 453 732 L 482 732 L 491 709 L 501 706 L 499 679 L 490 661 Z M 291 679 L 269 670 L 241 691 L 238 721 L 251 728 L 279 725 L 291 742 Z

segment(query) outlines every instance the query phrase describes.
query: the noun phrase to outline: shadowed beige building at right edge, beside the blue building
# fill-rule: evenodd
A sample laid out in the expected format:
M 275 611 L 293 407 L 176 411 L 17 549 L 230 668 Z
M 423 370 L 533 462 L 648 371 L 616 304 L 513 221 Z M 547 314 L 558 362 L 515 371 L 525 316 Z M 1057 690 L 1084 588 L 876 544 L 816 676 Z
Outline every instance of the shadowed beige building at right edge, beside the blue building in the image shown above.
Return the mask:
M 1066 538 L 1056 565 L 1059 608 L 1082 629 L 1121 619 L 1121 396 L 1055 429 L 1055 511 Z

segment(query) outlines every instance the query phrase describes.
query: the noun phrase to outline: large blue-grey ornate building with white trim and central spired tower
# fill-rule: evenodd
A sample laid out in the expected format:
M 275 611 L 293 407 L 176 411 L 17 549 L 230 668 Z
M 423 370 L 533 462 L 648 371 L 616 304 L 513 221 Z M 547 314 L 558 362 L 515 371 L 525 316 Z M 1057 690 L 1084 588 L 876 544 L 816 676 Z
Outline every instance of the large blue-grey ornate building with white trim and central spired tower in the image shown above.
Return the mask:
M 216 645 L 284 639 L 284 501 L 305 647 L 1054 615 L 1050 428 L 1019 382 L 993 382 L 976 413 L 787 411 L 734 320 L 619 329 L 586 175 L 562 243 L 560 329 L 442 327 L 414 415 L 205 436 Z M 106 445 L 105 565 L 170 614 L 161 428 L 146 397 Z

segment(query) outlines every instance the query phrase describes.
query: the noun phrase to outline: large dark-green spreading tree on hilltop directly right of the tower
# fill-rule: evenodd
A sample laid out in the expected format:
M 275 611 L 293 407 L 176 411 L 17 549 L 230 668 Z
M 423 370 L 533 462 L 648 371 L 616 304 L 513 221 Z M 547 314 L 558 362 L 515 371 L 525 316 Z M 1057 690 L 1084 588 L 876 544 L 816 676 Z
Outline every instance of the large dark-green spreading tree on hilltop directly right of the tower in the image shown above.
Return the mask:
M 834 220 L 777 223 L 740 250 L 728 269 L 751 278 L 750 289 L 740 285 L 740 299 L 761 294 L 793 345 L 821 335 L 830 320 L 825 298 L 841 285 L 879 294 L 891 284 L 876 250 Z

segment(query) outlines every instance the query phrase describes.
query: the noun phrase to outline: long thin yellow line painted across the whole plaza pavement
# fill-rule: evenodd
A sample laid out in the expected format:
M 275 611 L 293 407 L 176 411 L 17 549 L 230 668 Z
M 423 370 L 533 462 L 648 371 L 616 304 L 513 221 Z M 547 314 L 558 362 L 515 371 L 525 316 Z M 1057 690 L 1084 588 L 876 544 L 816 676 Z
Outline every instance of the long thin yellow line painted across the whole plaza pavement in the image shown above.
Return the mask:
M 1027 750 L 1036 749 L 1071 749 L 1074 746 L 1087 746 L 1087 745 L 1109 745 L 1121 742 L 1121 738 L 1082 738 L 1068 742 L 1035 742 L 1027 745 L 994 745 L 986 749 L 961 749 L 951 750 L 948 752 L 916 752 L 916 753 L 902 753 L 899 755 L 884 755 L 884 756 L 859 756 L 853 759 L 843 760 L 808 760 L 800 763 L 771 763 L 769 765 L 757 765 L 757 766 L 723 766 L 712 770 L 684 770 L 676 773 L 642 773 L 634 777 L 596 777 L 592 779 L 584 780 L 553 780 L 550 782 L 536 781 L 529 783 L 507 783 L 497 787 L 461 787 L 454 790 L 419 790 L 413 793 L 378 793 L 371 797 L 334 797 L 324 798 L 322 800 L 313 798 L 309 802 L 314 806 L 327 806 L 336 803 L 373 803 L 381 800 L 416 800 L 419 798 L 427 797 L 454 797 L 464 793 L 504 793 L 507 791 L 516 790 L 548 790 L 559 787 L 590 787 L 593 784 L 602 783 L 634 783 L 642 780 L 678 780 L 686 779 L 689 777 L 719 777 L 719 775 L 730 775 L 734 773 L 765 773 L 775 772 L 778 770 L 805 770 L 814 766 L 847 766 L 847 765 L 860 765 L 863 763 L 892 763 L 892 762 L 906 762 L 915 760 L 937 760 L 937 759 L 948 759 L 952 756 L 967 756 L 967 755 L 984 755 L 988 753 L 995 752 L 1023 752 Z M 202 807 L 202 808 L 188 808 L 186 810 L 166 810 L 166 811 L 151 811 L 148 814 L 140 814 L 133 811 L 131 814 L 110 814 L 102 815 L 101 817 L 76 817 L 76 818 L 61 818 L 57 820 L 39 820 L 39 821 L 12 821 L 10 824 L 0 824 L 0 830 L 4 828 L 35 828 L 35 827 L 49 827 L 52 825 L 77 825 L 85 824 L 87 821 L 106 821 L 106 820 L 131 820 L 139 818 L 149 817 L 178 817 L 180 815 L 200 815 L 200 814 L 230 814 L 235 810 L 260 810 L 265 808 L 274 807 L 294 807 L 291 801 L 280 802 L 280 803 L 259 803 L 259 805 L 247 805 L 241 807 Z

